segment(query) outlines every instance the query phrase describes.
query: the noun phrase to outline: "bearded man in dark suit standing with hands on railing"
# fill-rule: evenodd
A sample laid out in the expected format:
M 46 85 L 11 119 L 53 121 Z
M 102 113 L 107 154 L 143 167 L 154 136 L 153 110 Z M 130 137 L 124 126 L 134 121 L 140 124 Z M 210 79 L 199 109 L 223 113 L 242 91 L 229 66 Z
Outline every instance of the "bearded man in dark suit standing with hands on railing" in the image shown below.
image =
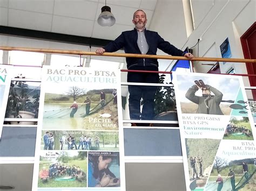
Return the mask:
M 134 30 L 122 32 L 116 40 L 103 48 L 98 48 L 96 53 L 115 52 L 124 47 L 125 53 L 156 55 L 157 48 L 159 48 L 167 54 L 193 58 L 191 53 L 183 53 L 183 51 L 161 38 L 157 32 L 146 30 L 147 18 L 143 10 L 134 12 L 132 23 L 135 25 Z M 129 70 L 158 71 L 157 59 L 126 58 L 126 63 Z M 127 74 L 127 82 L 158 83 L 158 81 L 159 75 L 157 73 L 128 72 Z M 128 86 L 131 119 L 153 119 L 156 89 L 157 87 L 152 86 Z M 143 98 L 142 113 L 140 112 L 141 98 Z

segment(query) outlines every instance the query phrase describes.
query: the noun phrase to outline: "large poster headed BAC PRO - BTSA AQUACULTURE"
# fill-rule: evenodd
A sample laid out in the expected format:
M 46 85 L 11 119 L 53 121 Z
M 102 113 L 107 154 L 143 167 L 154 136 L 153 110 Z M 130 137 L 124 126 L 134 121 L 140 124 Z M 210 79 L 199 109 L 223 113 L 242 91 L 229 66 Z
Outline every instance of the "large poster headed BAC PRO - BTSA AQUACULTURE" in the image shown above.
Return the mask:
M 44 67 L 42 76 L 32 189 L 123 190 L 120 71 Z

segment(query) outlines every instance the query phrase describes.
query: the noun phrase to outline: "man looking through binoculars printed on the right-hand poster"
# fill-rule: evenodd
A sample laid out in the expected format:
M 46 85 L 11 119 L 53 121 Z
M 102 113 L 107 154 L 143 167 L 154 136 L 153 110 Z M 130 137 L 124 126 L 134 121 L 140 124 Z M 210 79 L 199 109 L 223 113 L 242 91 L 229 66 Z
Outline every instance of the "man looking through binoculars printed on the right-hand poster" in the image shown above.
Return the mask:
M 196 81 L 197 82 L 197 81 Z M 196 92 L 201 89 L 202 96 L 196 96 Z M 211 95 L 211 92 L 214 95 Z M 187 90 L 186 98 L 198 104 L 197 114 L 223 115 L 220 109 L 220 102 L 223 94 L 216 88 L 209 85 L 199 86 L 197 83 Z

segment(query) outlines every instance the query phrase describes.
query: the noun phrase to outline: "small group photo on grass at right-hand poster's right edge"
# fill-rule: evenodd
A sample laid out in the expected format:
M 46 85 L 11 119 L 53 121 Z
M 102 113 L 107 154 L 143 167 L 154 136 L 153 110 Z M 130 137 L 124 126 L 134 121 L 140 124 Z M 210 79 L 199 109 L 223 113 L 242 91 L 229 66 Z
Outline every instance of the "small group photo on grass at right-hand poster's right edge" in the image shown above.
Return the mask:
M 253 140 L 252 128 L 248 117 L 231 117 L 223 139 Z

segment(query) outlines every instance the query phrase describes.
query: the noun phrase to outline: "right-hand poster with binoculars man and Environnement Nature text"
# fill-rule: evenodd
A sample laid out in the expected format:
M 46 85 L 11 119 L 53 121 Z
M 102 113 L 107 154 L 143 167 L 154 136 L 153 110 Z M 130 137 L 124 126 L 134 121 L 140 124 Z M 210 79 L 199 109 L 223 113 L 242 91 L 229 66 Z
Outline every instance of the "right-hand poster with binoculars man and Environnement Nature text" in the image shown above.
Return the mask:
M 252 190 L 255 127 L 241 76 L 175 74 L 187 190 Z

